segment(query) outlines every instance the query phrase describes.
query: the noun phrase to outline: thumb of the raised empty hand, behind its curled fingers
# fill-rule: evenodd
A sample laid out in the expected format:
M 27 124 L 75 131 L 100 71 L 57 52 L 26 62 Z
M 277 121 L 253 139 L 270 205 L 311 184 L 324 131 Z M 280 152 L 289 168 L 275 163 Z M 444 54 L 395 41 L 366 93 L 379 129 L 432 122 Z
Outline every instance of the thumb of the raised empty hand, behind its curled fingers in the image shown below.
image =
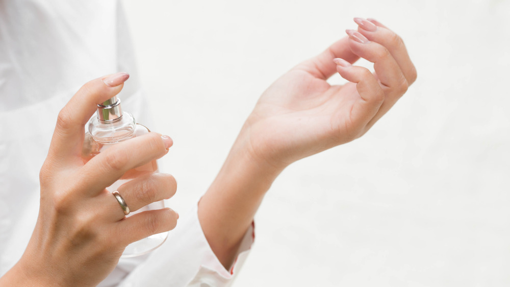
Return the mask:
M 354 63 L 360 58 L 351 52 L 348 41 L 348 37 L 338 40 L 333 45 L 329 46 L 324 52 L 300 63 L 295 68 L 306 70 L 316 78 L 323 80 L 328 79 L 337 71 L 336 65 L 333 63 L 333 59 L 342 58 L 350 63 Z

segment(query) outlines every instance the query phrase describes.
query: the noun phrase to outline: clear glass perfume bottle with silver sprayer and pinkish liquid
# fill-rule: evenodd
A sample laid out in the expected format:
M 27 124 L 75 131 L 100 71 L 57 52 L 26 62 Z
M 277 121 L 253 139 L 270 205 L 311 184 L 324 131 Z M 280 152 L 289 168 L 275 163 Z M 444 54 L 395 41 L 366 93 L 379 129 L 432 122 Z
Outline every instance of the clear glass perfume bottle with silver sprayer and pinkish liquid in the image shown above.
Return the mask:
M 137 124 L 133 115 L 129 112 L 122 111 L 120 100 L 113 97 L 101 105 L 97 105 L 97 113 L 87 124 L 87 132 L 85 133 L 85 141 L 83 143 L 82 158 L 84 162 L 89 161 L 92 157 L 100 152 L 108 149 L 118 142 L 141 136 L 150 132 L 146 127 Z M 139 177 L 144 174 L 158 172 L 158 163 L 152 160 L 138 168 L 127 171 L 119 180 L 107 187 L 110 192 L 114 192 L 125 182 Z M 163 201 L 153 202 L 135 212 L 131 212 L 128 216 L 146 210 L 154 210 L 164 208 Z M 158 248 L 165 242 L 168 231 L 154 234 L 142 240 L 128 245 L 121 257 L 134 257 L 146 254 Z

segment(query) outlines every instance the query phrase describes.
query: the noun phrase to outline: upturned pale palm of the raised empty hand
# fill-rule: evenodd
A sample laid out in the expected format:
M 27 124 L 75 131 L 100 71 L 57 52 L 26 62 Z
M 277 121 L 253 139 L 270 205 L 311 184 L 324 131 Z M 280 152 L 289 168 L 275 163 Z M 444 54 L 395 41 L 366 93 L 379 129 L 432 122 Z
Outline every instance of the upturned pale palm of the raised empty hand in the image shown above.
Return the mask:
M 294 161 L 350 141 L 362 132 L 354 114 L 360 99 L 353 83 L 331 86 L 294 68 L 257 103 L 250 116 L 252 146 L 271 154 L 301 151 L 282 159 Z

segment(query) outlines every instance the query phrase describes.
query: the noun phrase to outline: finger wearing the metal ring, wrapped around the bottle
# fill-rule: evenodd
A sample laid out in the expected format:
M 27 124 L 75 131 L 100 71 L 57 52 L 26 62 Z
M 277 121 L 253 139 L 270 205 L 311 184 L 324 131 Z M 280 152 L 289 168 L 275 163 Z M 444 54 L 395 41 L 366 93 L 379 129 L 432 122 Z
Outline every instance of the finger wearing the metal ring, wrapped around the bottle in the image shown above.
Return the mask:
M 117 191 L 124 199 L 130 211 L 136 211 L 145 205 L 171 198 L 177 190 L 175 178 L 169 174 L 148 174 L 122 184 Z M 117 200 L 111 196 L 112 209 L 118 210 L 115 221 L 124 218 L 124 212 Z

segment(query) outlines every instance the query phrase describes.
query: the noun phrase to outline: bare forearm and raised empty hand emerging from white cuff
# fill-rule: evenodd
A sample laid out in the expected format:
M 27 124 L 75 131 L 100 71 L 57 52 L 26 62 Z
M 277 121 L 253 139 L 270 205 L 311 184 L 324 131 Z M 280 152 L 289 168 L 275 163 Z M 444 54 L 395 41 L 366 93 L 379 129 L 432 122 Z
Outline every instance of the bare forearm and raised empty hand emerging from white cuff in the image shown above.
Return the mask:
M 362 136 L 416 80 L 395 33 L 375 20 L 355 21 L 357 32 L 348 30 L 349 37 L 300 63 L 262 94 L 200 200 L 200 224 L 225 268 L 286 166 Z M 360 57 L 374 63 L 374 74 L 351 65 Z M 336 72 L 349 83 L 329 85 Z

